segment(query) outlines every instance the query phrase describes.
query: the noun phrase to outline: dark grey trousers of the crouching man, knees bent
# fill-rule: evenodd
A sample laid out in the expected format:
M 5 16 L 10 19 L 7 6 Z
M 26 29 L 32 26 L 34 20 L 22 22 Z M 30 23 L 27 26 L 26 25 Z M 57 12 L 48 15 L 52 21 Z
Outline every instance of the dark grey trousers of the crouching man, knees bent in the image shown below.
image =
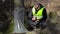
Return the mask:
M 45 29 L 47 23 L 46 23 L 46 21 L 42 21 L 42 22 L 39 22 L 39 23 L 35 23 L 35 22 L 29 20 L 29 25 L 30 25 L 32 28 L 40 28 L 40 27 L 41 27 L 41 29 Z

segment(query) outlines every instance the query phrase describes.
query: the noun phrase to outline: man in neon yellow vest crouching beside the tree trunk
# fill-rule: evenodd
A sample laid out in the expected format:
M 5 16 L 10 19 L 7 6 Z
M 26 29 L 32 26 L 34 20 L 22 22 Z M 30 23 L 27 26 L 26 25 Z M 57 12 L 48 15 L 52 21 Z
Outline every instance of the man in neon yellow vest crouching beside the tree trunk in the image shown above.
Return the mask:
M 34 4 L 32 11 L 28 14 L 29 24 L 32 28 L 44 29 L 46 27 L 47 13 L 46 9 L 38 2 Z

